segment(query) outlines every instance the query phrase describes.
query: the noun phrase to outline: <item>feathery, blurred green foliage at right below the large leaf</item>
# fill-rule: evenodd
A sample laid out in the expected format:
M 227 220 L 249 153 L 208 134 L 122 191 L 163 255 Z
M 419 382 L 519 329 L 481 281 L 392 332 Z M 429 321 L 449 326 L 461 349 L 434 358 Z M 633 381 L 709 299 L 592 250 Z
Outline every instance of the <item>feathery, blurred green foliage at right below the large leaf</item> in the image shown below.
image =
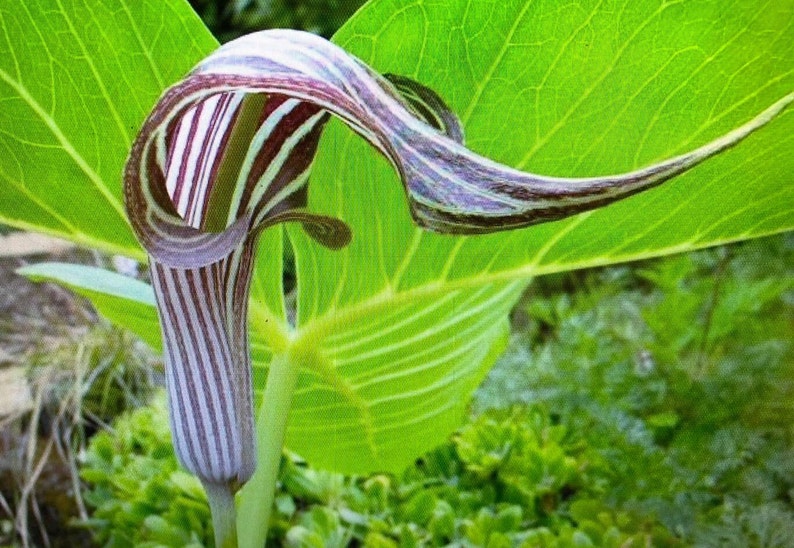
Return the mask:
M 793 252 L 774 237 L 545 278 L 475 410 L 554 410 L 612 470 L 601 500 L 686 543 L 778 545 L 758 539 L 794 519 Z

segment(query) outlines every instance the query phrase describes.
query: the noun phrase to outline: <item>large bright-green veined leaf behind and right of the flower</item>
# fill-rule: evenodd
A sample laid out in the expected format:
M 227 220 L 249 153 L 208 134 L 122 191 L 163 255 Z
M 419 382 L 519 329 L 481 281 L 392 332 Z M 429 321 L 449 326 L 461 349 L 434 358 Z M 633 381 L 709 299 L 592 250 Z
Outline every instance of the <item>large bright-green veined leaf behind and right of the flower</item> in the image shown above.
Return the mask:
M 370 3 L 335 37 L 429 85 L 467 143 L 552 175 L 684 152 L 794 90 L 794 2 Z M 398 468 L 446 435 L 521 291 L 546 272 L 694 249 L 794 226 L 794 112 L 691 173 L 573 219 L 483 237 L 411 224 L 391 167 L 329 128 L 314 208 L 353 228 L 328 252 L 290 231 L 299 334 L 317 356 L 289 444 L 343 470 Z

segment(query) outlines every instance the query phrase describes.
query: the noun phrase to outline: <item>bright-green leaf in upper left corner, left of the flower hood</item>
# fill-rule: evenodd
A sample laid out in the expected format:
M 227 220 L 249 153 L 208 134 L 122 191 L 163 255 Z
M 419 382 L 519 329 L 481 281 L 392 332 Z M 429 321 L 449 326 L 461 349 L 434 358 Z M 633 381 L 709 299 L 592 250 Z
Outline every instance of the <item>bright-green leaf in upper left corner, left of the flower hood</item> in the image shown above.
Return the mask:
M 124 160 L 217 42 L 185 0 L 3 2 L 0 29 L 0 222 L 143 258 Z

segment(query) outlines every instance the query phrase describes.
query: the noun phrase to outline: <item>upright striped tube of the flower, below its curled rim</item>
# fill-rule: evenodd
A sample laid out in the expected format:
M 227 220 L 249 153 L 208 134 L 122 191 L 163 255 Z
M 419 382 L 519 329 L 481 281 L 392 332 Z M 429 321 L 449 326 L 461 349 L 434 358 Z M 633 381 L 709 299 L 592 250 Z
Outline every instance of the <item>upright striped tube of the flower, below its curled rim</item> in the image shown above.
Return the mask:
M 221 485 L 244 483 L 256 451 L 251 376 L 245 373 L 252 244 L 239 249 L 200 268 L 150 263 L 174 445 L 188 470 Z

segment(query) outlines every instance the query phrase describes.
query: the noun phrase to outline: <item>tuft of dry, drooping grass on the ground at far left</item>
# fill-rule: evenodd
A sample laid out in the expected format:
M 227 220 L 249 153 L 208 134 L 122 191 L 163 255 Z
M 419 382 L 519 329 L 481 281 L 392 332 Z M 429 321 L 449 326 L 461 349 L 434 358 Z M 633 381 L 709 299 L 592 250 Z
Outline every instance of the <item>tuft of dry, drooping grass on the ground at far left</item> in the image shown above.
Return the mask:
M 74 546 L 86 540 L 69 527 L 88 518 L 79 455 L 94 432 L 141 405 L 158 381 L 155 362 L 140 343 L 102 323 L 50 344 L 29 354 L 30 410 L 0 419 L 6 455 L 0 465 L 5 478 L 0 510 L 13 522 L 21 546 Z

